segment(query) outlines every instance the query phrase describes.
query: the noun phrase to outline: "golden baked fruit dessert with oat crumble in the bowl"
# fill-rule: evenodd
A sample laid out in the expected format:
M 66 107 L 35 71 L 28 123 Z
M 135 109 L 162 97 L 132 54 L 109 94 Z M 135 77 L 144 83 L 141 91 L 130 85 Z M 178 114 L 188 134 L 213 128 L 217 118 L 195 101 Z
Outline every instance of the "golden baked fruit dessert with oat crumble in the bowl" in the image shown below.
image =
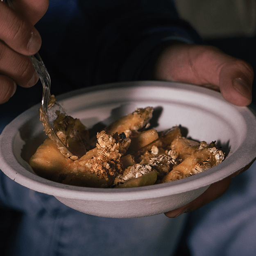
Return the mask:
M 214 142 L 207 145 L 184 138 L 177 126 L 161 132 L 150 129 L 152 112 L 152 107 L 136 109 L 96 138 L 89 138 L 79 120 L 60 115 L 54 127 L 63 142 L 68 141 L 70 127 L 77 125 L 86 136 L 88 151 L 79 159 L 67 157 L 47 138 L 29 164 L 39 176 L 63 184 L 129 188 L 182 179 L 224 160 Z

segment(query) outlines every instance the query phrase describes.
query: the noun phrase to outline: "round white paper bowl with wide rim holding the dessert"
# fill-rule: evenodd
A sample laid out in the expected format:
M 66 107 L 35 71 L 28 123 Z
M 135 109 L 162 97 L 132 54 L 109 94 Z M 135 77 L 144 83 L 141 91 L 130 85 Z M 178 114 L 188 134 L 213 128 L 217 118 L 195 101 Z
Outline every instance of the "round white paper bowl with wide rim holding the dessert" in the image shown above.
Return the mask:
M 247 107 L 226 102 L 220 93 L 172 82 L 127 82 L 95 86 L 57 98 L 66 112 L 87 127 L 109 124 L 137 107 L 153 106 L 160 114 L 157 130 L 181 125 L 188 136 L 217 141 L 229 156 L 192 177 L 140 188 L 83 188 L 43 179 L 27 163 L 43 142 L 39 105 L 13 120 L 0 136 L 0 169 L 32 190 L 53 195 L 78 211 L 102 217 L 143 217 L 164 213 L 201 195 L 210 184 L 243 168 L 256 157 L 256 118 Z M 157 112 L 157 111 L 156 111 Z

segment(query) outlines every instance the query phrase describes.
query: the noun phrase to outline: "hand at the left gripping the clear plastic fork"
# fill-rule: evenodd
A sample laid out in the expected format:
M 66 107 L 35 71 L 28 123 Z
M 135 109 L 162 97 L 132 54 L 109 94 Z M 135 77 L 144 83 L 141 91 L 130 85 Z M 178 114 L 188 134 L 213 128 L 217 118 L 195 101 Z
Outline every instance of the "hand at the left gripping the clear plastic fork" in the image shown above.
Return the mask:
M 41 47 L 34 28 L 48 9 L 48 0 L 16 0 L 14 10 L 0 1 L 0 104 L 9 100 L 16 84 L 30 87 L 38 81 L 30 55 Z

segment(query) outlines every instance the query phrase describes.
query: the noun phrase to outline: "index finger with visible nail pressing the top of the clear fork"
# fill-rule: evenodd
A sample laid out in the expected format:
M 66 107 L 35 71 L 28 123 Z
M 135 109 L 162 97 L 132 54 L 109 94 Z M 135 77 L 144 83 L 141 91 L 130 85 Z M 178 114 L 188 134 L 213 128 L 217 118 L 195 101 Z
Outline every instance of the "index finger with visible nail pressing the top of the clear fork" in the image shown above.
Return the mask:
M 33 55 L 41 47 L 39 32 L 3 2 L 0 2 L 0 40 L 24 55 Z

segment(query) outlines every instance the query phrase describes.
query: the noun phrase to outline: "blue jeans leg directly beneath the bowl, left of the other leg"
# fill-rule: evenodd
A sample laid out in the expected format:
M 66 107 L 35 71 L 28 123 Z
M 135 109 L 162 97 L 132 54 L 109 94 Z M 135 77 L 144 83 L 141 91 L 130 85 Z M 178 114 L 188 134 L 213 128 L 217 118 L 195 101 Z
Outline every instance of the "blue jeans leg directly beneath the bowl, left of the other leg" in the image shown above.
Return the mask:
M 0 105 L 0 132 L 18 111 L 27 108 L 20 103 L 21 108 L 13 111 L 19 96 Z M 22 213 L 8 248 L 10 256 L 170 256 L 186 222 L 186 215 L 176 219 L 163 214 L 134 219 L 96 217 L 25 188 L 2 172 L 0 184 L 0 206 Z

